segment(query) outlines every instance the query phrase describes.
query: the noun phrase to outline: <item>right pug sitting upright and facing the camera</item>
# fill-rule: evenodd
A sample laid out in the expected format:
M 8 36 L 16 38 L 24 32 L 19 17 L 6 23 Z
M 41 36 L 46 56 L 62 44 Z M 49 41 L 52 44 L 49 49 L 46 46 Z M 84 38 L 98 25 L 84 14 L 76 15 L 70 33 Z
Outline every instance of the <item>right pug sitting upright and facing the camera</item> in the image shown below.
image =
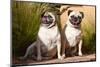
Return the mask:
M 64 27 L 65 46 L 67 46 L 66 54 L 70 52 L 71 55 L 76 54 L 82 56 L 82 31 L 81 22 L 84 18 L 84 13 L 80 11 L 69 10 L 68 21 Z

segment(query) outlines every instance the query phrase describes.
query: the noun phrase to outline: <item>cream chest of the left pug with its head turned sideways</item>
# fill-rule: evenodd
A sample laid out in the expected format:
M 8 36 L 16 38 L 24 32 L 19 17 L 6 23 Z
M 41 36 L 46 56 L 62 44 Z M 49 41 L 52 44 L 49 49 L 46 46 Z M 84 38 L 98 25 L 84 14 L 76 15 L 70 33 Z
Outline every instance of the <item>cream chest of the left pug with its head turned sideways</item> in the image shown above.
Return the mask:
M 56 38 L 58 37 L 57 27 L 51 29 L 41 27 L 38 36 L 41 42 L 43 42 L 43 45 L 51 49 L 56 46 Z

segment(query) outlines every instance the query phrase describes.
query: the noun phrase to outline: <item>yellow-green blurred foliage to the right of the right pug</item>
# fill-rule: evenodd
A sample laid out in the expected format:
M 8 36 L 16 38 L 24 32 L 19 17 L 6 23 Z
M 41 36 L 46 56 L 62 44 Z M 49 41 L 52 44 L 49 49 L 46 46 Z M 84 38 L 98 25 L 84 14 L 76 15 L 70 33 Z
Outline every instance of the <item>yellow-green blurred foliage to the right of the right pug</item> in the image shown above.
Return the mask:
M 96 53 L 96 23 L 95 18 L 88 16 L 82 24 L 83 52 Z

